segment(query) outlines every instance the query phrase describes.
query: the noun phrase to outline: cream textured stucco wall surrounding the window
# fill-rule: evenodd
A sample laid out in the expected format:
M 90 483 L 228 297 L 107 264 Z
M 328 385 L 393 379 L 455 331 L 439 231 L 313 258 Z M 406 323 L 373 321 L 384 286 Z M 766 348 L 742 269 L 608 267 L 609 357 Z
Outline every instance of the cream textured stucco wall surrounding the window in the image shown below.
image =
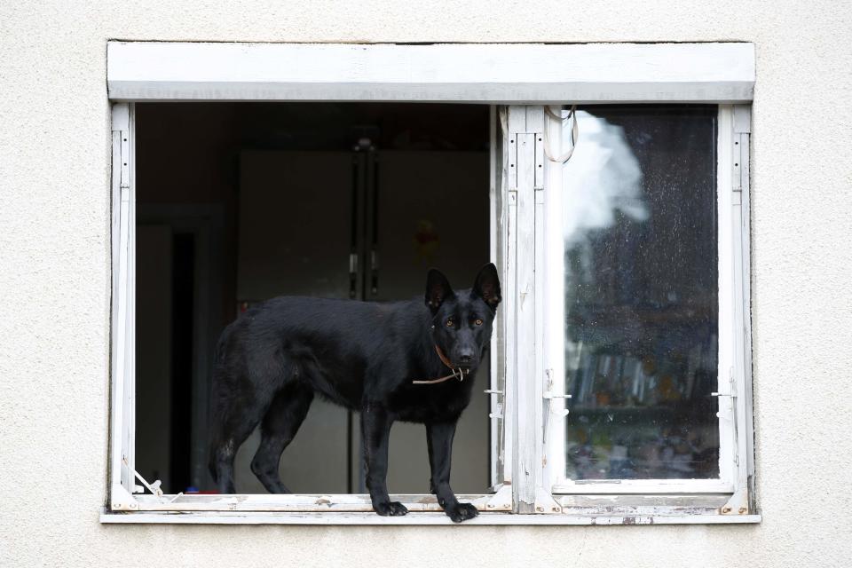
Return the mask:
M 0 565 L 848 565 L 850 29 L 847 2 L 0 3 Z M 756 43 L 762 525 L 99 525 L 107 38 Z

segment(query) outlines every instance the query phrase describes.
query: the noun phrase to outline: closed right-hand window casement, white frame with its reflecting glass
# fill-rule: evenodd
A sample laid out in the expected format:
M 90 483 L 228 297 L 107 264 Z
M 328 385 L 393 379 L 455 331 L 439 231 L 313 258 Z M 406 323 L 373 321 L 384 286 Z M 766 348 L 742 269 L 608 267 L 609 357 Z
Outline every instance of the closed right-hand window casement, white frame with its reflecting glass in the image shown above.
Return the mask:
M 564 298 L 548 344 L 564 351 L 554 376 L 571 397 L 547 444 L 553 491 L 563 503 L 716 494 L 704 502 L 744 513 L 747 108 L 588 106 L 576 118 L 546 247 L 563 278 L 548 271 L 545 286 Z

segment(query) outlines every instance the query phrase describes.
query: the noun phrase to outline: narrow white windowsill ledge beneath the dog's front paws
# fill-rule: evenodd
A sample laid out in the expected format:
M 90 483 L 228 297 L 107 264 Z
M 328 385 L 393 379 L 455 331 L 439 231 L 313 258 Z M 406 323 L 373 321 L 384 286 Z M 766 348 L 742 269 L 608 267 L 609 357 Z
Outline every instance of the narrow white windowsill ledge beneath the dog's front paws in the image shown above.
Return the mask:
M 113 513 L 101 510 L 100 522 L 130 525 L 455 525 L 444 513 L 409 513 L 379 517 L 375 513 L 296 513 L 227 511 L 146 511 Z M 761 522 L 761 515 L 513 515 L 480 513 L 461 525 L 734 525 Z

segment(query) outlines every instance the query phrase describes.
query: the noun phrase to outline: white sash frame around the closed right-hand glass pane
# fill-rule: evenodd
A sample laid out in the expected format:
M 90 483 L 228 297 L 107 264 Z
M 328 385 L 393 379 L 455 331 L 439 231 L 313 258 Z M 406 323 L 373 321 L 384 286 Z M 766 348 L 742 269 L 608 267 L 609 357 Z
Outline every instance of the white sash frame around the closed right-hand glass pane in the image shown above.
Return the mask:
M 564 382 L 552 383 L 546 397 L 551 409 L 547 436 L 547 485 L 561 504 L 572 503 L 569 495 L 715 493 L 722 514 L 744 515 L 753 511 L 751 440 L 751 363 L 748 278 L 748 147 L 750 107 L 719 105 L 717 115 L 717 222 L 718 222 L 718 343 L 720 381 L 714 395 L 719 399 L 720 476 L 715 479 L 624 479 L 572 481 L 564 477 Z M 549 117 L 548 117 L 549 118 Z M 564 131 L 559 121 L 549 119 L 548 140 L 561 152 Z M 563 143 L 564 142 L 564 143 Z M 565 149 L 567 149 L 567 147 Z M 562 165 L 547 162 L 545 199 L 548 216 L 539 229 L 543 234 L 547 263 L 540 289 L 547 296 L 551 317 L 542 325 L 544 359 L 551 375 L 564 377 L 564 243 L 562 240 Z M 741 459 L 742 456 L 742 459 Z M 564 495 L 564 496 L 563 496 Z M 709 498 L 708 498 L 709 499 Z M 706 502 L 706 501 L 705 501 Z

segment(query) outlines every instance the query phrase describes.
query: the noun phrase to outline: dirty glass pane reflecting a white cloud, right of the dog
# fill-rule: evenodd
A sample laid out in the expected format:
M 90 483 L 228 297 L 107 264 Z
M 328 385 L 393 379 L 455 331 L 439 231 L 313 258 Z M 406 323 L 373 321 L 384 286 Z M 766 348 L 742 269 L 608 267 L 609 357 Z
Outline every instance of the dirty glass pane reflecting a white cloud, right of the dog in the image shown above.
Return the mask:
M 570 479 L 719 477 L 716 112 L 578 112 L 563 173 Z

